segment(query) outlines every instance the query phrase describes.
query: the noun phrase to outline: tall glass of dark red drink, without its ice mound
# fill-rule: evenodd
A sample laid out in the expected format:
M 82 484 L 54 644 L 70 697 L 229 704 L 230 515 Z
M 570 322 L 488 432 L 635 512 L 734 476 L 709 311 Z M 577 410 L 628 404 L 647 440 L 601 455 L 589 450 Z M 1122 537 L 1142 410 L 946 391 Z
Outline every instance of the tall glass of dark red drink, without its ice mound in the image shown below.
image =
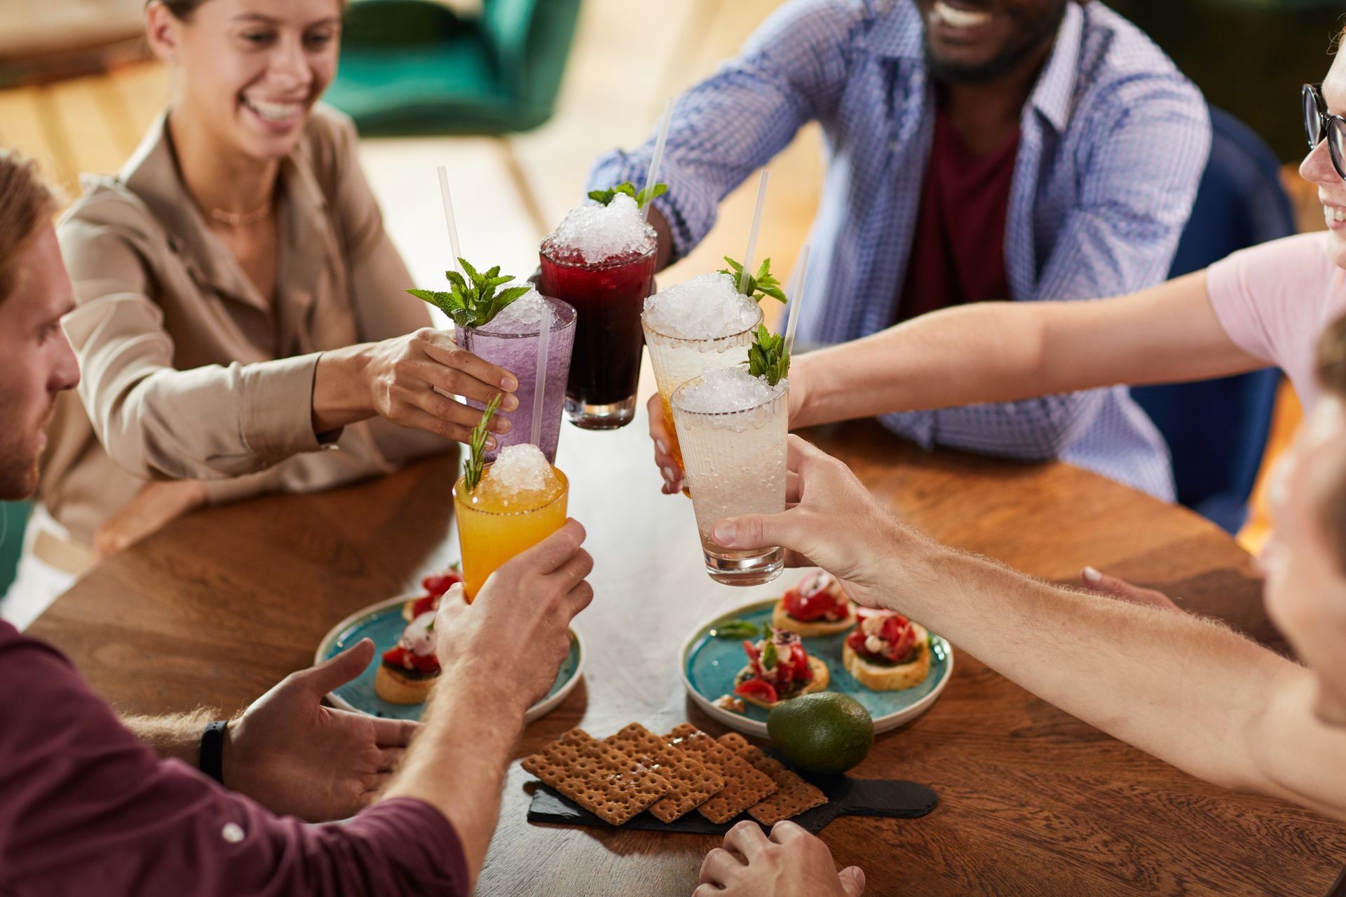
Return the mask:
M 654 284 L 656 241 L 638 251 L 584 262 L 548 237 L 538 289 L 579 316 L 565 390 L 565 417 L 587 430 L 612 430 L 635 417 L 641 375 L 641 309 Z

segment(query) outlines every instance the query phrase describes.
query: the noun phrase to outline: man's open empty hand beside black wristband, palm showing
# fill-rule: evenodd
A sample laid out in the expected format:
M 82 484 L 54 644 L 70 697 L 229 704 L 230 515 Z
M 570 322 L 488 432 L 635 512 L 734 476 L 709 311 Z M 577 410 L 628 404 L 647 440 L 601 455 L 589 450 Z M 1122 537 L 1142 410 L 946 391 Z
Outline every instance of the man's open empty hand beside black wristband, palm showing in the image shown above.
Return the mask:
M 369 639 L 292 672 L 229 724 L 223 781 L 277 814 L 322 822 L 373 803 L 420 724 L 322 705 L 374 658 Z

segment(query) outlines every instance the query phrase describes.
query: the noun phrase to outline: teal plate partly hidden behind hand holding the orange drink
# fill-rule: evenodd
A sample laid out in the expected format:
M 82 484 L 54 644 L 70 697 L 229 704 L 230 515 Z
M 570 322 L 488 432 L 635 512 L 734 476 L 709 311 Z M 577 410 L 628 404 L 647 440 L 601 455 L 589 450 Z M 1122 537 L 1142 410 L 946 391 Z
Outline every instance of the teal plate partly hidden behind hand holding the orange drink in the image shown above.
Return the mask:
M 402 604 L 420 596 L 421 593 L 417 592 L 371 604 L 363 611 L 350 615 L 323 636 L 323 640 L 318 643 L 316 654 L 314 654 L 314 663 L 322 663 L 365 637 L 373 639 L 377 650 L 374 660 L 358 678 L 327 694 L 327 699 L 332 705 L 374 717 L 420 719 L 421 710 L 425 709 L 424 703 L 388 703 L 374 693 L 374 672 L 378 670 L 384 651 L 396 646 L 397 640 L 402 637 L 402 629 L 406 628 L 406 621 L 402 620 Z M 524 719 L 533 722 L 555 710 L 579 683 L 583 670 L 584 643 L 579 633 L 571 629 L 571 654 L 561 663 L 561 671 L 556 675 L 552 690 L 545 698 L 529 707 Z

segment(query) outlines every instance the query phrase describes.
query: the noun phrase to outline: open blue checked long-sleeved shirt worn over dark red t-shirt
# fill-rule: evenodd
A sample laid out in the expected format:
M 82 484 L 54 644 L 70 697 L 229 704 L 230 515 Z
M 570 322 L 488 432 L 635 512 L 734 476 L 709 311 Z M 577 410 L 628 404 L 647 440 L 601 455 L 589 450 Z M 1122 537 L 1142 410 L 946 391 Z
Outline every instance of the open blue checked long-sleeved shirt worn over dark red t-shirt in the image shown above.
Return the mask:
M 921 15 L 910 0 L 793 0 L 742 55 L 677 104 L 656 200 L 674 257 L 720 200 L 821 122 L 828 171 L 800 338 L 888 327 L 906 277 L 934 125 Z M 1067 4 L 1023 109 L 1005 222 L 1010 299 L 1093 299 L 1162 281 L 1210 151 L 1201 93 L 1097 0 Z M 591 187 L 642 183 L 653 140 L 604 156 Z M 1105 339 L 1105 336 L 1102 336 Z M 1127 389 L 883 416 L 896 433 L 1019 459 L 1061 457 L 1172 499 L 1168 449 Z

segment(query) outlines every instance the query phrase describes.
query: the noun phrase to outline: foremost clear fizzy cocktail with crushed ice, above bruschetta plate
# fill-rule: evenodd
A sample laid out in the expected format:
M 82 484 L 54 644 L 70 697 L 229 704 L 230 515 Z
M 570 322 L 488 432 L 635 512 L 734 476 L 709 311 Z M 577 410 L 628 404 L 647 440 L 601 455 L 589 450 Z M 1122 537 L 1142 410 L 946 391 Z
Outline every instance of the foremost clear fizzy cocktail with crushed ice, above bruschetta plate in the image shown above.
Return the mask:
M 716 520 L 785 511 L 787 379 L 770 386 L 744 367 L 707 368 L 673 391 L 686 483 L 701 534 L 705 572 L 727 585 L 781 576 L 779 547 L 735 550 L 711 538 Z

